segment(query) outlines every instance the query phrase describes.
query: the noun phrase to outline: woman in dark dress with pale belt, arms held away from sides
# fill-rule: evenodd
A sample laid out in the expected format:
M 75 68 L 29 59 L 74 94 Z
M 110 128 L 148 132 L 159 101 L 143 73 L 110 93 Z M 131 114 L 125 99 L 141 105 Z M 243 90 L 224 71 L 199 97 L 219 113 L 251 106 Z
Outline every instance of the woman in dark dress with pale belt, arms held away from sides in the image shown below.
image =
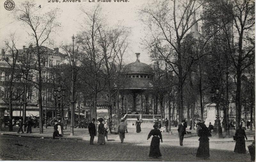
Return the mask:
M 150 151 L 149 151 L 148 156 L 158 158 L 158 157 L 162 156 L 160 149 L 159 149 L 159 145 L 160 145 L 160 139 L 161 139 L 162 143 L 163 143 L 163 139 L 162 139 L 162 134 L 161 134 L 160 130 L 157 129 L 158 125 L 155 124 L 153 127 L 154 127 L 154 129 L 152 129 L 148 134 L 148 139 L 151 136 L 153 136 L 153 138 L 151 140 Z

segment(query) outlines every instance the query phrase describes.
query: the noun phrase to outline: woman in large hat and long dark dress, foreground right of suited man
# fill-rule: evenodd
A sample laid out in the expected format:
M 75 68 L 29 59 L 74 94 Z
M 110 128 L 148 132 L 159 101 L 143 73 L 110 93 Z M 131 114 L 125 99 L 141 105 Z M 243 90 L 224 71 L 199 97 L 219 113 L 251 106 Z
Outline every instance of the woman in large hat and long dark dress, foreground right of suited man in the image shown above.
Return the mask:
M 196 152 L 196 157 L 208 159 L 210 157 L 208 137 L 211 136 L 211 133 L 209 132 L 208 128 L 204 123 L 198 123 L 198 125 L 202 129 L 198 130 L 198 136 L 200 136 L 200 138 L 199 138 L 199 147 Z

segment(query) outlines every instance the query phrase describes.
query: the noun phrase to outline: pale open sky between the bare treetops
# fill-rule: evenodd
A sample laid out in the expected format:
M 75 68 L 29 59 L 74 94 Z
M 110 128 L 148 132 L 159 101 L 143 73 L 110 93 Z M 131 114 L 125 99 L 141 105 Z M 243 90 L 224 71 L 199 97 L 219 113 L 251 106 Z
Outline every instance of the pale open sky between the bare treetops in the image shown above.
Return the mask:
M 6 0 L 0 0 L 0 47 L 4 48 L 4 40 L 8 39 L 11 33 L 15 33 L 17 38 L 16 47 L 22 48 L 27 46 L 30 38 L 28 32 L 31 33 L 31 29 L 25 27 L 22 22 L 14 18 L 13 11 L 8 11 L 4 8 L 4 2 Z M 18 7 L 24 0 L 13 0 L 15 7 Z M 54 45 L 47 47 L 56 48 L 61 44 L 71 43 L 71 36 L 76 35 L 81 31 L 81 25 L 84 18 L 84 10 L 91 10 L 94 6 L 100 4 L 102 7 L 102 13 L 107 15 L 106 21 L 110 25 L 116 24 L 118 21 L 122 22 L 123 26 L 129 27 L 131 33 L 128 37 L 129 46 L 127 48 L 127 54 L 124 56 L 124 63 L 132 63 L 136 61 L 135 53 L 140 53 L 140 62 L 150 64 L 150 58 L 147 50 L 144 49 L 142 39 L 144 39 L 146 33 L 145 25 L 140 22 L 139 9 L 148 0 L 129 0 L 129 2 L 89 2 L 92 0 L 81 0 L 81 2 L 48 2 L 49 0 L 35 0 L 36 6 L 41 5 L 41 9 L 38 10 L 49 11 L 51 8 L 58 7 L 62 10 L 61 15 L 57 19 L 61 22 L 61 28 L 58 30 L 52 38 L 54 38 Z M 51 0 L 52 1 L 52 0 Z M 97 0 L 95 0 L 97 1 Z M 14 7 L 14 9 L 15 9 Z

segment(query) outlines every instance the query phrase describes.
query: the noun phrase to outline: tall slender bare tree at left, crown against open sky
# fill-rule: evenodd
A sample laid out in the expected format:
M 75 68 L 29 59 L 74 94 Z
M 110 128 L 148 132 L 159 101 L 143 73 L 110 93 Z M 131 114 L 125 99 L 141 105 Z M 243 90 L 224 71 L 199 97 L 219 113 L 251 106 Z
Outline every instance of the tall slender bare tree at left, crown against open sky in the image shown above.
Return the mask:
M 36 7 L 33 2 L 25 1 L 21 3 L 20 8 L 17 9 L 17 18 L 21 20 L 25 26 L 28 26 L 31 33 L 32 43 L 35 45 L 34 53 L 37 58 L 35 70 L 38 71 L 37 88 L 38 88 L 38 106 L 39 106 L 39 132 L 43 133 L 43 114 L 42 114 L 42 68 L 41 55 L 45 53 L 42 45 L 46 41 L 50 42 L 50 35 L 60 24 L 56 21 L 59 10 L 52 9 L 44 14 L 41 14 L 41 8 Z

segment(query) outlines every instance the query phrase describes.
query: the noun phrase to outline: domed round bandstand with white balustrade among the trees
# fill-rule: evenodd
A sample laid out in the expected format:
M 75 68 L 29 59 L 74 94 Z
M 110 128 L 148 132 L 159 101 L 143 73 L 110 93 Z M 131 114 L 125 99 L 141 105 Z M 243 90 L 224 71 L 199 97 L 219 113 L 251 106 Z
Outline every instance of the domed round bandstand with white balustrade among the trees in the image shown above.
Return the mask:
M 151 92 L 153 90 L 154 72 L 148 64 L 140 62 L 140 53 L 136 53 L 136 56 L 137 60 L 134 63 L 124 66 L 122 74 L 123 81 L 119 87 L 122 109 L 124 97 L 128 100 L 127 102 L 132 103 L 132 107 L 126 105 L 125 112 L 124 110 L 120 112 L 124 113 L 123 118 L 126 120 L 128 128 L 134 127 L 137 118 L 143 121 L 142 127 L 151 128 L 154 119 L 160 119 L 160 115 L 154 115 L 152 109 Z M 129 96 L 132 96 L 132 99 Z M 140 101 L 140 106 L 138 106 L 137 100 Z M 150 105 L 148 104 L 149 102 Z

